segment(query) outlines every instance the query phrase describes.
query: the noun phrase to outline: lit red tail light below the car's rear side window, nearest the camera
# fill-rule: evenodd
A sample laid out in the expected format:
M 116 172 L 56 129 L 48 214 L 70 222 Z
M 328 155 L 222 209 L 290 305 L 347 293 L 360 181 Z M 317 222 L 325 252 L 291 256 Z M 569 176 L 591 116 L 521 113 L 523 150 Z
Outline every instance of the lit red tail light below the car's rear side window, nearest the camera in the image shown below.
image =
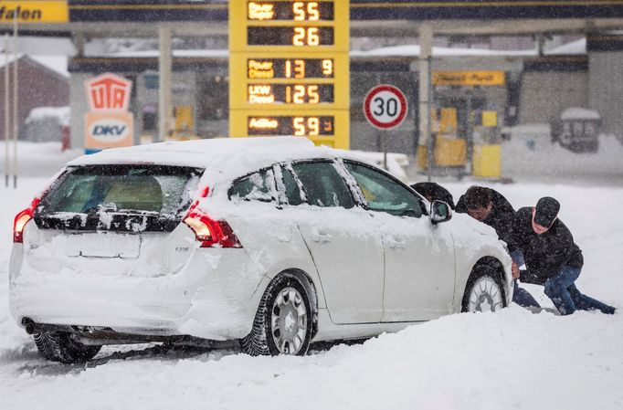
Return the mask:
M 242 247 L 238 237 L 226 221 L 215 221 L 206 214 L 192 209 L 184 223 L 195 232 L 201 247 Z

